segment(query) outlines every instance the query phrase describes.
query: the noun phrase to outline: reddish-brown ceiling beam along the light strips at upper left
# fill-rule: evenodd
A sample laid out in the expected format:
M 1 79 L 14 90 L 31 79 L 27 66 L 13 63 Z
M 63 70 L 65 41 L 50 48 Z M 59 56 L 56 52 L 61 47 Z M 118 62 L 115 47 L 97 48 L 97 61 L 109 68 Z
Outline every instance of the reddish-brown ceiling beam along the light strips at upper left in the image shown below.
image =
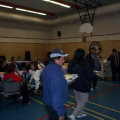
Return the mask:
M 52 13 L 52 12 L 38 10 L 38 9 L 34 9 L 34 8 L 29 8 L 29 7 L 24 7 L 24 6 L 20 6 L 20 5 L 16 5 L 16 4 L 11 4 L 11 3 L 7 3 L 7 2 L 0 1 L 0 4 L 11 6 L 13 8 L 21 8 L 21 9 L 31 10 L 31 11 L 35 11 L 35 12 L 45 13 L 45 14 L 50 15 L 50 16 L 55 16 L 55 13 Z

